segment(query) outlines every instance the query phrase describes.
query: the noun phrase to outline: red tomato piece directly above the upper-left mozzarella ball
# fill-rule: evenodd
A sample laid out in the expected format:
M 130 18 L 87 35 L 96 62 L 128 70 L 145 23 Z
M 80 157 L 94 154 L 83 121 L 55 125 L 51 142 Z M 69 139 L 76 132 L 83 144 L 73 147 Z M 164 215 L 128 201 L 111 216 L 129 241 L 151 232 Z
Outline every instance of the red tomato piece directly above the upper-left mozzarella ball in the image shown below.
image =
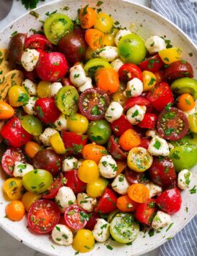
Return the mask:
M 47 40 L 47 37 L 45 35 L 40 34 L 34 34 L 30 35 L 27 40 L 24 43 L 24 49 L 41 49 L 45 52 L 51 52 L 52 51 L 52 44 Z

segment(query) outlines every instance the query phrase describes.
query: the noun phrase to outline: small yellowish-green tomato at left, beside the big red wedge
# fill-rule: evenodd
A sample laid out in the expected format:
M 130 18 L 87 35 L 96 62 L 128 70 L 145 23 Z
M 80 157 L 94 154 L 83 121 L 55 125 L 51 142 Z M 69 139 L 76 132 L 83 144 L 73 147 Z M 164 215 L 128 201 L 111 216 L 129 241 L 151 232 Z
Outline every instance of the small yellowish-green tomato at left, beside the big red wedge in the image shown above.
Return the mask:
M 27 115 L 20 118 L 22 127 L 34 136 L 42 134 L 42 122 L 35 116 Z

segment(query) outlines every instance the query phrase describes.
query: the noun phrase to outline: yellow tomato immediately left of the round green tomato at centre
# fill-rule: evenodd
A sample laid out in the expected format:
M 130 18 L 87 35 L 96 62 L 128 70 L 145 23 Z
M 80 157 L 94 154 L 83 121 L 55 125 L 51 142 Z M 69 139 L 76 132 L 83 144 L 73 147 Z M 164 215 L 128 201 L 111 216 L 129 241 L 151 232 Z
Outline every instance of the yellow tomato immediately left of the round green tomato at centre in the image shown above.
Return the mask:
M 84 134 L 88 130 L 88 119 L 83 114 L 68 116 L 67 127 L 70 132 Z

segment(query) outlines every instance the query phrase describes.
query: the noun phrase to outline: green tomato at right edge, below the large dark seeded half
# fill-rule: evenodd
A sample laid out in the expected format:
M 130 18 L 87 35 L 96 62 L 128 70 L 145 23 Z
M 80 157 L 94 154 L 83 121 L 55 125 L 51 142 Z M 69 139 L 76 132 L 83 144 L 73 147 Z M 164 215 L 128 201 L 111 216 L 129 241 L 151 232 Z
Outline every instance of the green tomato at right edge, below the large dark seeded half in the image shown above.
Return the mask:
M 182 145 L 170 151 L 175 170 L 191 169 L 197 163 L 197 147 L 194 145 Z

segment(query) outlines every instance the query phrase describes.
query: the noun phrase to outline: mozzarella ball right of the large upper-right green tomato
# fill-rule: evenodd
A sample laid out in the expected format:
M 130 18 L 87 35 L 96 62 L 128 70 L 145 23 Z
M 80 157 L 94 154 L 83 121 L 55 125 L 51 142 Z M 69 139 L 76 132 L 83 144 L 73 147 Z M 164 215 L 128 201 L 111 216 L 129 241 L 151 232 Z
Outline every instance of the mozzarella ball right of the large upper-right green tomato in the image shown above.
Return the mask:
M 157 35 L 154 35 L 146 40 L 145 47 L 150 54 L 159 52 L 160 50 L 164 50 L 166 48 L 165 40 Z

